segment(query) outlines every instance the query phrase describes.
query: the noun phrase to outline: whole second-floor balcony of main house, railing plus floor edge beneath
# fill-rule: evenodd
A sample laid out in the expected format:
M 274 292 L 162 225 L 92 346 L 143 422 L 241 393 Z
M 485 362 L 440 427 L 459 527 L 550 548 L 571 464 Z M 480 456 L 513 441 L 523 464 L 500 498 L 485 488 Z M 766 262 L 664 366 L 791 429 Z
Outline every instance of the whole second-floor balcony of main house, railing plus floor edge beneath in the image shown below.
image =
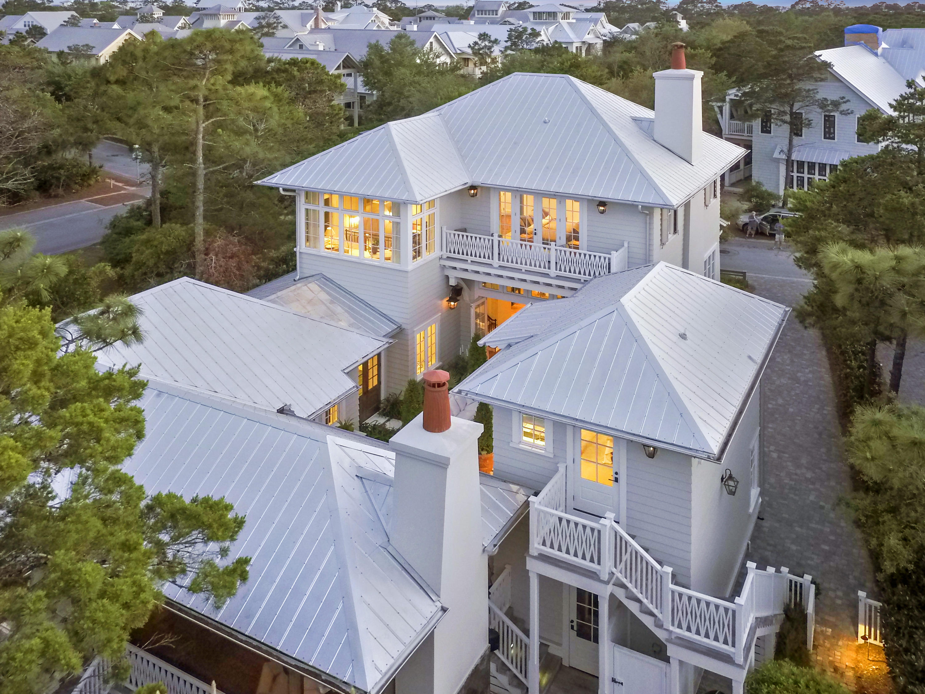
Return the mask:
M 578 289 L 589 279 L 627 268 L 628 247 L 609 254 L 554 243 L 504 239 L 466 229 L 442 229 L 441 264 L 448 274 L 473 279 L 510 279 Z

